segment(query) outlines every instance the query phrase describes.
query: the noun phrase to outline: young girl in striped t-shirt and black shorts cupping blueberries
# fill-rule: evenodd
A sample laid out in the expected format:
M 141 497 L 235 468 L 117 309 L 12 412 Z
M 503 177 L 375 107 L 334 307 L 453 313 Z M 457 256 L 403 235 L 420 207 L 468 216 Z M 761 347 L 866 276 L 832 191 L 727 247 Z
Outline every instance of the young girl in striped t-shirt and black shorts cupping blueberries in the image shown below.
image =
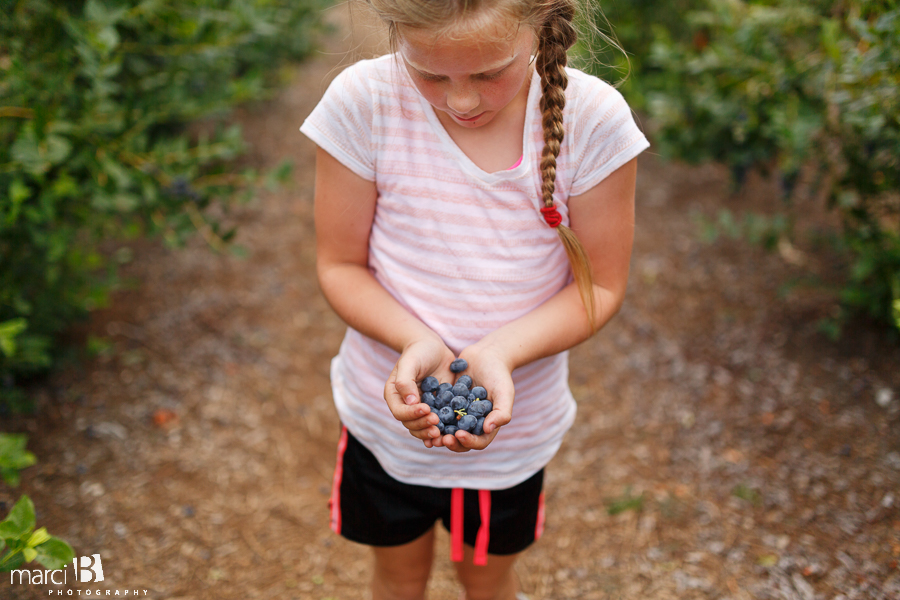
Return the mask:
M 618 92 L 566 67 L 574 1 L 367 0 L 395 51 L 343 71 L 301 128 L 319 281 L 349 325 L 332 528 L 373 547 L 376 600 L 424 597 L 438 519 L 461 597 L 516 597 L 575 418 L 567 350 L 625 294 L 648 144 Z M 493 400 L 483 435 L 442 436 L 420 402 L 457 357 Z

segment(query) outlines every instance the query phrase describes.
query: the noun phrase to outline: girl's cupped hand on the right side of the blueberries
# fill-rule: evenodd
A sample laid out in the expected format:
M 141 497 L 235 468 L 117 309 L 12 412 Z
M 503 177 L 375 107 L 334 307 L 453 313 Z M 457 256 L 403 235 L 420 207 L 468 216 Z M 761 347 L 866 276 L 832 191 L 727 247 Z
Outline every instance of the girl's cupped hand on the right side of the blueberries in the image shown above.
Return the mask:
M 473 344 L 463 350 L 460 358 L 466 359 L 469 368 L 460 375 L 469 375 L 477 385 L 488 391 L 494 410 L 484 419 L 484 434 L 474 435 L 468 431 L 457 431 L 456 435 L 444 435 L 432 443 L 435 446 L 446 446 L 454 452 L 484 450 L 503 425 L 512 420 L 512 406 L 515 398 L 515 387 L 512 381 L 512 367 L 509 361 L 495 348 Z M 426 442 L 426 446 L 428 443 Z

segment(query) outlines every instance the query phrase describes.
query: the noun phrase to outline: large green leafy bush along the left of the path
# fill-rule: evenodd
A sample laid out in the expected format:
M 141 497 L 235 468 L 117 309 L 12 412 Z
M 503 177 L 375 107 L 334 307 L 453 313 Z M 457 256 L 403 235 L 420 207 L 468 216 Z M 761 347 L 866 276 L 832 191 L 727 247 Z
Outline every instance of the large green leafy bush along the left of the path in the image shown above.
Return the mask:
M 204 209 L 254 179 L 237 128 L 311 48 L 320 0 L 0 3 L 0 410 L 115 289 L 129 240 L 233 235 Z M 209 129 L 209 128 L 208 128 Z

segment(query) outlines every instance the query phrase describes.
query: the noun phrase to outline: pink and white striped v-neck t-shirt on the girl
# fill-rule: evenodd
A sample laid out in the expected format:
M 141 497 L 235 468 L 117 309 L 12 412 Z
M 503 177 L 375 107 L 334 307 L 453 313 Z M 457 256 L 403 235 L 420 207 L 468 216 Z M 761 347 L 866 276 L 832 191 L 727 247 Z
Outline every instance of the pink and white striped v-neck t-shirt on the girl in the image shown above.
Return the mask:
M 618 91 L 581 71 L 567 71 L 555 194 L 564 224 L 570 195 L 587 192 L 649 145 Z M 369 268 L 457 355 L 571 280 L 559 236 L 539 212 L 539 100 L 534 74 L 523 159 L 496 173 L 483 171 L 457 147 L 393 55 L 344 70 L 300 128 L 376 183 Z M 393 418 L 382 397 L 398 358 L 351 328 L 332 361 L 331 377 L 341 420 L 400 481 L 511 487 L 550 461 L 575 418 L 564 352 L 513 373 L 512 421 L 485 450 L 425 448 Z

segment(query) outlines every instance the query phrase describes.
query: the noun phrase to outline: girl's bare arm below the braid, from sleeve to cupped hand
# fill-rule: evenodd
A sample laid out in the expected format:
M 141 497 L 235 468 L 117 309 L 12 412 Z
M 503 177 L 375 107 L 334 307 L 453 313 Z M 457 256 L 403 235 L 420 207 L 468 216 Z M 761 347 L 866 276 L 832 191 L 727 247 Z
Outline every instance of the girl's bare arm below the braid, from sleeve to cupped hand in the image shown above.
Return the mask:
M 594 302 L 597 307 L 594 329 L 602 328 L 622 306 L 628 281 L 631 247 L 634 241 L 634 190 L 637 159 L 632 159 L 609 177 L 580 196 L 569 198 L 569 220 L 588 256 L 594 278 Z M 512 385 L 514 369 L 539 358 L 551 356 L 580 344 L 592 335 L 587 311 L 578 287 L 572 283 L 533 311 L 489 333 L 466 348 L 470 370 L 483 371 L 473 377 L 489 390 L 496 380 L 504 389 Z M 505 394 L 497 404 L 511 416 L 512 394 Z M 507 406 L 508 405 L 508 406 Z M 503 423 L 491 423 L 492 412 L 484 430 L 493 431 Z M 499 416 L 499 415 L 498 415 Z M 489 426 L 489 423 L 490 426 Z M 458 439 L 444 436 L 451 450 L 484 448 L 490 440 L 458 433 Z

